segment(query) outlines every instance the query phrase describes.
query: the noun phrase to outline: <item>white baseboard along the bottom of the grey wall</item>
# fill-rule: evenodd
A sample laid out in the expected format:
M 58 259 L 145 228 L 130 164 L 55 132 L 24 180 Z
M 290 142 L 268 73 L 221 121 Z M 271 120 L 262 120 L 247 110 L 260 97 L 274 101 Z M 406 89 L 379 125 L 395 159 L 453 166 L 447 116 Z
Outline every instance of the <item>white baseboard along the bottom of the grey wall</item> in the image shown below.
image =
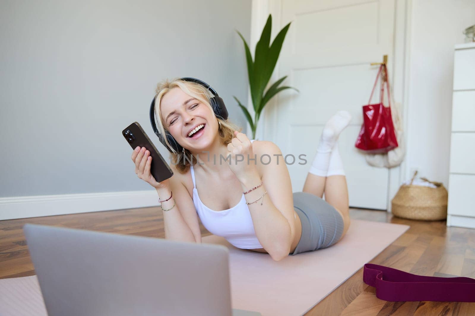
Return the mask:
M 156 190 L 0 198 L 0 221 L 159 206 Z

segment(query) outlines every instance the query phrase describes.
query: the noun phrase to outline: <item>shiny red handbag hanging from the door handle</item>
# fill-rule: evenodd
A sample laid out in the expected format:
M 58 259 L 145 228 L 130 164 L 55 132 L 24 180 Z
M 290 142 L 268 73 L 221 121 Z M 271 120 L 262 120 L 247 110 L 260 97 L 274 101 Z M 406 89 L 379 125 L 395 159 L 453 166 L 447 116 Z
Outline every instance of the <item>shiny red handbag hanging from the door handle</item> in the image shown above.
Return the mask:
M 382 64 L 376 76 L 368 105 L 363 105 L 363 124 L 356 139 L 355 147 L 368 153 L 386 153 L 398 147 L 398 140 L 391 117 L 391 107 L 383 105 L 384 83 L 381 84 L 380 103 L 370 104 L 378 78 L 383 70 L 386 71 L 388 102 L 391 102 L 388 73 L 386 65 Z M 391 103 L 390 103 L 391 105 Z

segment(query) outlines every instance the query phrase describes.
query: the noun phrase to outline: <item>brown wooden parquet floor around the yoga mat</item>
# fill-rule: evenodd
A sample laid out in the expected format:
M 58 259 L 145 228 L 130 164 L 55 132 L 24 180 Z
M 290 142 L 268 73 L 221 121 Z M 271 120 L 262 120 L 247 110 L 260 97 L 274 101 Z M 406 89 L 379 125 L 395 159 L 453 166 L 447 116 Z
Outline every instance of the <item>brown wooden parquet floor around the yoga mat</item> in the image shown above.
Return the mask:
M 475 230 L 447 227 L 445 221 L 399 219 L 384 211 L 352 209 L 350 215 L 411 226 L 371 263 L 420 275 L 475 278 Z M 35 274 L 22 232 L 25 223 L 164 237 L 158 207 L 0 221 L 0 279 Z M 202 226 L 201 232 L 203 236 L 209 234 Z M 363 283 L 362 276 L 361 269 L 305 315 L 475 315 L 475 303 L 380 300 L 374 288 Z

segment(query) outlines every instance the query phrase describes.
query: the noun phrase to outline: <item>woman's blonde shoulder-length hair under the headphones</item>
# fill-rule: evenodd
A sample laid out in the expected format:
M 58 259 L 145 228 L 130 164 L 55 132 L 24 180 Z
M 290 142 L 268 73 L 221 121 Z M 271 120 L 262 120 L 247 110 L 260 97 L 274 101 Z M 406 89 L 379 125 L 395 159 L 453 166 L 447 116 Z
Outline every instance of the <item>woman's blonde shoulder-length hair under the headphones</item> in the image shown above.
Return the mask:
M 160 106 L 161 100 L 165 94 L 170 92 L 173 88 L 180 88 L 184 93 L 190 95 L 191 97 L 199 100 L 206 106 L 209 110 L 214 113 L 213 108 L 211 107 L 211 96 L 207 88 L 201 84 L 194 82 L 180 80 L 179 78 L 168 80 L 165 79 L 157 84 L 157 89 L 155 90 L 155 115 L 158 118 L 157 129 L 163 135 L 163 139 L 168 147 L 172 150 L 170 154 L 171 163 L 175 165 L 176 169 L 180 173 L 185 173 L 190 167 L 190 162 L 195 164 L 197 159 L 191 157 L 191 153 L 188 149 L 185 149 L 184 155 L 183 152 L 177 152 L 173 147 L 171 147 L 168 139 L 165 136 L 165 128 L 163 126 Z M 242 128 L 232 123 L 228 119 L 222 120 L 221 118 L 216 117 L 218 122 L 220 122 L 221 127 L 219 128 L 219 141 L 223 145 L 228 145 L 234 137 L 234 131 L 241 131 Z M 184 157 L 185 156 L 185 157 Z

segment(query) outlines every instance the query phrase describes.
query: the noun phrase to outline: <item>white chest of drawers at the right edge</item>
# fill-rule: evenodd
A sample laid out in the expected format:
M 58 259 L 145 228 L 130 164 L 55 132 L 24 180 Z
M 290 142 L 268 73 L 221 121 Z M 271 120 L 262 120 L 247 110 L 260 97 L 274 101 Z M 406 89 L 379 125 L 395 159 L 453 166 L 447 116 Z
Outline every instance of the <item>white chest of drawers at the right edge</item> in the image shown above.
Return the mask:
M 454 53 L 447 226 L 475 228 L 475 43 Z

